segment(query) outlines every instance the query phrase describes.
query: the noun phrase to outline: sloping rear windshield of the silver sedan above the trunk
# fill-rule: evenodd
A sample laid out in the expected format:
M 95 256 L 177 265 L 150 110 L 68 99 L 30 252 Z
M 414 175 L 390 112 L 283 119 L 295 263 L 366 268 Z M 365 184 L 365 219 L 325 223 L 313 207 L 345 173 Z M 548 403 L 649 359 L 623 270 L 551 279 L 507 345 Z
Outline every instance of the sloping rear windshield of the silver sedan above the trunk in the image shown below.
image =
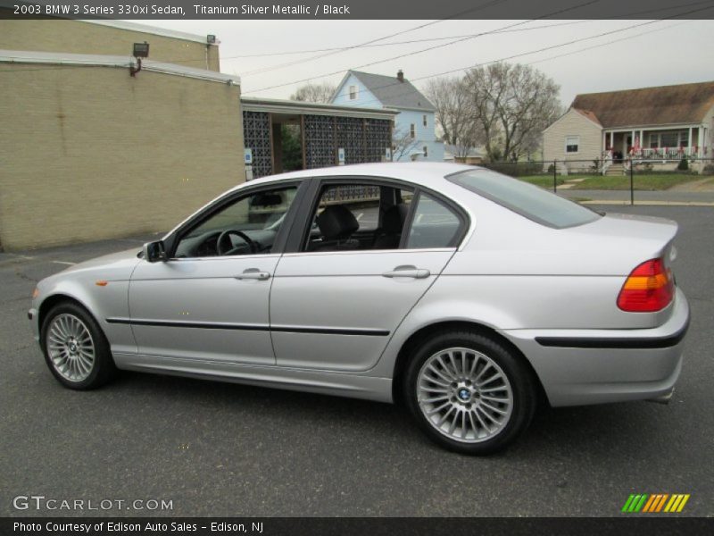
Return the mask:
M 564 229 L 594 222 L 600 214 L 522 180 L 485 169 L 454 173 L 447 180 L 534 222 Z

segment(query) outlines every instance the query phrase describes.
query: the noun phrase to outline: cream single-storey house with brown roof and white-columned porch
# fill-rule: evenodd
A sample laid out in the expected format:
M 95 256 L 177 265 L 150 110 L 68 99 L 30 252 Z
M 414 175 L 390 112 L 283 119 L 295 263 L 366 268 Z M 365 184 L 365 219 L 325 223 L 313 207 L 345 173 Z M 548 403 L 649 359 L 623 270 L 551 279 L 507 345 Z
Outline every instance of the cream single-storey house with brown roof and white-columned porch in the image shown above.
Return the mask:
M 686 157 L 699 169 L 714 157 L 712 129 L 714 82 L 587 93 L 544 130 L 544 160 L 575 170 L 602 159 L 614 171 L 632 158 L 666 170 Z

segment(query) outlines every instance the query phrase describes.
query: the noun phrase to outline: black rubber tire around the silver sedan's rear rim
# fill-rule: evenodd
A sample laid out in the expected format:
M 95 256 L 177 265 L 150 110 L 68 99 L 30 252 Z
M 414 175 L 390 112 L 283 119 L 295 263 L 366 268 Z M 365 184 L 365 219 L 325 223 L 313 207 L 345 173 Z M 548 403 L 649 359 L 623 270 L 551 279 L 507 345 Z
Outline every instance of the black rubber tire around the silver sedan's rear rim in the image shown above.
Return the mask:
M 432 356 L 448 348 L 467 348 L 486 356 L 501 368 L 508 379 L 512 395 L 511 414 L 503 423 L 502 429 L 493 437 L 478 442 L 452 439 L 444 431 L 436 430 L 436 425 L 432 424 L 422 412 L 418 399 L 419 373 Z M 402 389 L 403 399 L 409 412 L 429 439 L 454 452 L 475 456 L 492 454 L 518 439 L 533 419 L 537 400 L 533 373 L 522 362 L 522 357 L 514 355 L 514 352 L 501 341 L 473 331 L 442 331 L 422 341 L 413 351 L 411 360 L 407 364 Z M 477 396 L 482 395 L 474 395 L 474 402 Z M 451 400 L 460 402 L 456 397 Z M 448 408 L 449 406 L 446 406 L 446 409 Z

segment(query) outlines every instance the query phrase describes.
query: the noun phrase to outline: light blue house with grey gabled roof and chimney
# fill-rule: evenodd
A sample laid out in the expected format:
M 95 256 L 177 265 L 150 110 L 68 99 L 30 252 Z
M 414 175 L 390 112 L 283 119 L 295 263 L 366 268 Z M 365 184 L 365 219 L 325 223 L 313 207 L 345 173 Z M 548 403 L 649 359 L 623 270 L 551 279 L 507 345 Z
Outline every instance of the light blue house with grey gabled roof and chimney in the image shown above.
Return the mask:
M 403 151 L 403 155 L 395 154 L 394 161 L 444 161 L 444 143 L 436 139 L 436 109 L 404 78 L 403 71 L 398 71 L 396 77 L 347 71 L 331 102 L 341 106 L 382 106 L 398 110 L 394 119 L 394 138 L 403 138 L 409 150 Z

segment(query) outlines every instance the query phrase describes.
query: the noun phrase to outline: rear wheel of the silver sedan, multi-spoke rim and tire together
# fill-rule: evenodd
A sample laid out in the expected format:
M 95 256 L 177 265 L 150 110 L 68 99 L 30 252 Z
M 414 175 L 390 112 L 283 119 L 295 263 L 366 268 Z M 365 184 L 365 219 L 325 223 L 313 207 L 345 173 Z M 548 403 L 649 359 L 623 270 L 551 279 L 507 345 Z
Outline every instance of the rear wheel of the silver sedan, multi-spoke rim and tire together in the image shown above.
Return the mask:
M 535 412 L 530 371 L 500 341 L 445 331 L 414 352 L 404 375 L 411 415 L 429 438 L 463 454 L 505 448 Z

